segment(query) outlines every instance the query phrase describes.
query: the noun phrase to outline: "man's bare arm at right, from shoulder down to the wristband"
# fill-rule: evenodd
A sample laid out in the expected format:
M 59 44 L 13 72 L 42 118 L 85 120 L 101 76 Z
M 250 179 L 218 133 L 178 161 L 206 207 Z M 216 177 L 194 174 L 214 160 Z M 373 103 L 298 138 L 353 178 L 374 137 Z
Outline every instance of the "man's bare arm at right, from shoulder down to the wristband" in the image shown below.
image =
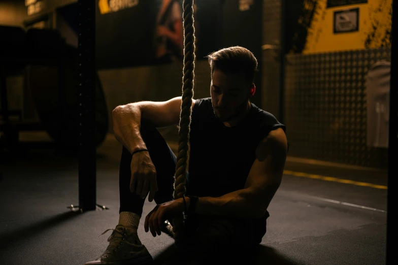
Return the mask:
M 221 197 L 200 197 L 196 214 L 236 218 L 260 218 L 266 212 L 282 181 L 287 139 L 282 128 L 270 132 L 256 149 L 256 159 L 245 188 Z M 189 207 L 189 198 L 187 206 Z

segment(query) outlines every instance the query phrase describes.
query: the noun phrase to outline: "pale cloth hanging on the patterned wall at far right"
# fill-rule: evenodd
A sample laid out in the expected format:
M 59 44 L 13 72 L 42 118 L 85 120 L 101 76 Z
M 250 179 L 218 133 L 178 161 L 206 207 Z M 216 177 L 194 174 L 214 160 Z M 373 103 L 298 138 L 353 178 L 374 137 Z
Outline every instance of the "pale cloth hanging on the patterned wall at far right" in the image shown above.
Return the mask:
M 390 62 L 380 61 L 372 65 L 368 73 L 366 93 L 369 147 L 388 148 L 390 69 Z

